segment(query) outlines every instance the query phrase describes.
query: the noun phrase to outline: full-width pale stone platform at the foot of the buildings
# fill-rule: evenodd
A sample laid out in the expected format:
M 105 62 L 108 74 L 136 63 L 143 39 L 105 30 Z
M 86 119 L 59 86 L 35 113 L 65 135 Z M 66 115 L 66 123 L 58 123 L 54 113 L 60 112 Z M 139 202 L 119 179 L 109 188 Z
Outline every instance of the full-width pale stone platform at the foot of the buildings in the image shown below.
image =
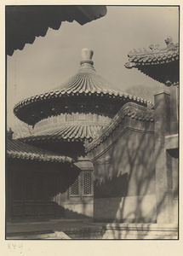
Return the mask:
M 7 224 L 6 239 L 119 239 L 177 240 L 177 224 L 93 223 L 63 219 L 39 223 Z

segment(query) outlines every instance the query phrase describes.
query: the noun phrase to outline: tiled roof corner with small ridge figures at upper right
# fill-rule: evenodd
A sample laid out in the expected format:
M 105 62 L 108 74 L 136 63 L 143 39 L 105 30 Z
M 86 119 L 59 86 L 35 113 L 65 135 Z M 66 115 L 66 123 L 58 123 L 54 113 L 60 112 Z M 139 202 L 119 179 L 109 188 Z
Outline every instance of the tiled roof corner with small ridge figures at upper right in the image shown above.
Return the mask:
M 165 40 L 167 48 L 158 49 L 158 45 L 151 45 L 149 50 L 139 49 L 129 52 L 129 62 L 125 67 L 140 67 L 148 65 L 158 65 L 179 60 L 179 44 L 173 44 L 172 38 Z

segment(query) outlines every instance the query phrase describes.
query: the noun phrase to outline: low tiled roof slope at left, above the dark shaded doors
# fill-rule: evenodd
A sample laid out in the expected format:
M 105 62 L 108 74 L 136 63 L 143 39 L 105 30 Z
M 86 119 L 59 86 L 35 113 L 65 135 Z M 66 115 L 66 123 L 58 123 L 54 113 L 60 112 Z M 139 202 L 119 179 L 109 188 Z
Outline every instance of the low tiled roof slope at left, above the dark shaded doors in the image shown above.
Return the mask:
M 71 157 L 55 154 L 48 150 L 43 150 L 35 146 L 27 145 L 18 140 L 7 140 L 7 157 L 11 159 L 39 160 L 51 162 L 68 162 L 73 160 Z

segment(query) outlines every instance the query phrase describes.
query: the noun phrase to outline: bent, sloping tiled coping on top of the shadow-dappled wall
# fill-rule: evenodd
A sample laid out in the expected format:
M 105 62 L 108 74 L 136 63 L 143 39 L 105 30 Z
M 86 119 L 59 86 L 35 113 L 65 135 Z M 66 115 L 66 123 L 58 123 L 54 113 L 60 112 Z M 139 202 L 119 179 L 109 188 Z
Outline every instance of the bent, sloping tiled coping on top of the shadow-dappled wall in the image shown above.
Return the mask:
M 115 115 L 111 123 L 107 125 L 103 130 L 101 130 L 97 137 L 95 137 L 91 143 L 85 142 L 85 151 L 91 151 L 92 149 L 100 145 L 100 143 L 102 143 L 104 140 L 106 140 L 106 138 L 110 136 L 112 131 L 117 128 L 117 126 L 122 122 L 125 117 L 138 119 L 140 121 L 154 121 L 154 113 L 152 109 L 139 106 L 133 102 L 126 103 Z

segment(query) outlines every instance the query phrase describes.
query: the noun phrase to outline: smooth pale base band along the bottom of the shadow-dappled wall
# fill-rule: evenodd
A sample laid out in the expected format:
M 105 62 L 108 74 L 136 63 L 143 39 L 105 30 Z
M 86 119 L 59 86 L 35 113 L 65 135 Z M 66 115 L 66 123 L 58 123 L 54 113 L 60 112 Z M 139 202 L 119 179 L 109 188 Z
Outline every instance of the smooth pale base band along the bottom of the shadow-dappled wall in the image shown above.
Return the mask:
M 138 202 L 140 202 L 140 215 L 136 214 Z M 155 206 L 155 195 L 95 199 L 94 219 L 106 222 L 115 220 L 128 223 L 154 223 L 156 222 L 156 216 L 153 216 L 153 212 L 156 210 Z

